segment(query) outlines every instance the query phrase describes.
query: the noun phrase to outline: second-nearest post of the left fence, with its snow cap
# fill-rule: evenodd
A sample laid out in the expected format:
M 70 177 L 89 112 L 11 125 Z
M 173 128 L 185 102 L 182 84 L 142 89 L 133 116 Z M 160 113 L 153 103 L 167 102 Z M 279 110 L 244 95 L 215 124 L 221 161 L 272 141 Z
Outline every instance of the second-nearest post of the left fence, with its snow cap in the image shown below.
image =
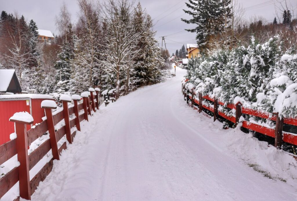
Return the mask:
M 41 102 L 41 105 L 42 105 L 42 102 Z M 54 125 L 53 114 L 52 114 L 52 109 L 56 109 L 57 105 L 56 107 L 41 106 L 41 108 L 45 109 L 46 121 L 48 124 L 48 132 L 50 134 L 50 147 L 52 149 L 53 159 L 60 160 L 59 149 L 58 149 L 58 144 L 56 139 L 55 125 Z

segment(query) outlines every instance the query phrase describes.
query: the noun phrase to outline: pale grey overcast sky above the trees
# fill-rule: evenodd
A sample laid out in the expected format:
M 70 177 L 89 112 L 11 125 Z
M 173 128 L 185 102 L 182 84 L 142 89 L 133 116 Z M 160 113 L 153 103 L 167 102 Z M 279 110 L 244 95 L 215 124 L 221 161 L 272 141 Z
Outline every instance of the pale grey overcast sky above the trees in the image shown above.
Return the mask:
M 170 54 L 180 49 L 182 44 L 195 43 L 195 33 L 188 33 L 184 28 L 190 28 L 193 25 L 187 25 L 180 18 L 189 16 L 182 9 L 187 9 L 185 3 L 187 0 L 140 0 L 143 8 L 154 19 L 154 30 L 157 30 L 156 38 L 160 42 L 160 36 L 165 37 L 166 46 Z M 284 0 L 238 0 L 243 8 L 246 8 L 245 17 L 262 16 L 266 20 L 273 20 L 275 16 L 274 3 Z M 75 0 L 65 0 L 72 22 L 77 19 L 78 5 Z M 101 1 L 102 2 L 102 1 Z M 287 0 L 291 2 L 292 7 L 296 9 L 296 0 Z M 24 15 L 27 21 L 33 19 L 38 28 L 51 30 L 58 34 L 55 26 L 55 16 L 59 14 L 61 0 L 37 1 L 37 0 L 0 0 L 0 9 L 8 13 L 18 12 Z M 296 11 L 295 11 L 296 12 Z M 296 15 L 296 13 L 295 13 Z

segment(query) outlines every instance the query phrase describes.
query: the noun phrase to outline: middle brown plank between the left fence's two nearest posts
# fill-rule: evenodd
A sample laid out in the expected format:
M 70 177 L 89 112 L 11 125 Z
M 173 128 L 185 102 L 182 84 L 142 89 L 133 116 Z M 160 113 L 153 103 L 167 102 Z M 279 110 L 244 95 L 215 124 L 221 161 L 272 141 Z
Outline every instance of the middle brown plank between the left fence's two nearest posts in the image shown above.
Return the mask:
M 50 140 L 47 139 L 29 154 L 29 169 L 31 170 L 34 165 L 36 165 L 50 151 L 50 149 Z

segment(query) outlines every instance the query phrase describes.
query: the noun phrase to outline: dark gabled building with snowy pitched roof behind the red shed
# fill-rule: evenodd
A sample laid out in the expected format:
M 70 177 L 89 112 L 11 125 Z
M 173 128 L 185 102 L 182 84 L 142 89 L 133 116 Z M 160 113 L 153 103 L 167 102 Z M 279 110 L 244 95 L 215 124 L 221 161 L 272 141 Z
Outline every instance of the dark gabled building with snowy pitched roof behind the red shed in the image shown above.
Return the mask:
M 0 69 L 0 93 L 21 93 L 22 87 L 15 70 Z

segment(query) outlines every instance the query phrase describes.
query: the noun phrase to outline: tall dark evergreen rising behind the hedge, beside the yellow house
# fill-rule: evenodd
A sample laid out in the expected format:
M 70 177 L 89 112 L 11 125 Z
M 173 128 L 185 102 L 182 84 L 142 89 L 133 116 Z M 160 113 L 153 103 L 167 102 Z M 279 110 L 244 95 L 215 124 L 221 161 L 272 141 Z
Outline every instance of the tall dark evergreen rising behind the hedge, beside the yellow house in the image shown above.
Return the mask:
M 196 40 L 199 49 L 208 49 L 208 42 L 211 38 L 225 29 L 225 24 L 232 16 L 230 2 L 231 0 L 189 0 L 189 3 L 186 3 L 190 10 L 184 10 L 184 12 L 193 18 L 181 20 L 187 24 L 196 25 L 195 28 L 186 30 L 197 33 Z

